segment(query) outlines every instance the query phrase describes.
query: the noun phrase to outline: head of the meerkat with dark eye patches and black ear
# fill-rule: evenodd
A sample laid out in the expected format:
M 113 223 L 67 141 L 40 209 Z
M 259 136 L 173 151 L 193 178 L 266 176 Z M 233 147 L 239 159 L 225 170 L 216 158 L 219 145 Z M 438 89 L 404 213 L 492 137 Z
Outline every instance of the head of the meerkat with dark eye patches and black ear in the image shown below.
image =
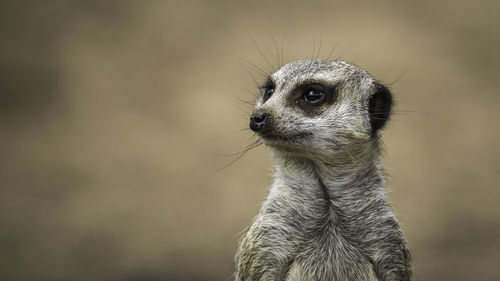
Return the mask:
M 392 95 L 342 61 L 297 61 L 262 85 L 250 128 L 273 150 L 324 157 L 366 152 L 389 118 Z

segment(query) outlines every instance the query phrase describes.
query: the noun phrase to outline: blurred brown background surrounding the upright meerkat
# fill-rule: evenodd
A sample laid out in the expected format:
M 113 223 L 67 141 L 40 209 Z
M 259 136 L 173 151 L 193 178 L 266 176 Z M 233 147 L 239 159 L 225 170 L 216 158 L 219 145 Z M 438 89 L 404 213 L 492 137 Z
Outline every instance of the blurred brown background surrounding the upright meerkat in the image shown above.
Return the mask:
M 333 50 L 395 95 L 384 162 L 415 280 L 500 280 L 499 9 L 0 2 L 0 279 L 231 280 L 272 160 L 214 173 L 235 158 L 214 154 L 252 142 L 252 76 Z

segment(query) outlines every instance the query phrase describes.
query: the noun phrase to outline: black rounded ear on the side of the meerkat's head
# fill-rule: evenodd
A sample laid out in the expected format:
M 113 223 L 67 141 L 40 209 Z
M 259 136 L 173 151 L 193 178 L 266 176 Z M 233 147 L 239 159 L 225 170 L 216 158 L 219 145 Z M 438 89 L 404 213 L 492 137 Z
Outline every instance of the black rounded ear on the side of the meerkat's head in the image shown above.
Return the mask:
M 372 135 L 382 129 L 389 119 L 392 107 L 392 94 L 386 86 L 375 83 L 375 90 L 368 103 Z

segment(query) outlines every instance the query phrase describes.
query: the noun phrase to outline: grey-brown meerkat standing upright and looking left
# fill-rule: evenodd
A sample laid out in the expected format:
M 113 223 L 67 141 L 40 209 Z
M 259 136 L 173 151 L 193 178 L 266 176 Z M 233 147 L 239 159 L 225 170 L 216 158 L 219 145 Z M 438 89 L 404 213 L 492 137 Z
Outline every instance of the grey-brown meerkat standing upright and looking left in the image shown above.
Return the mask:
M 411 280 L 380 160 L 392 100 L 343 61 L 296 61 L 269 76 L 250 128 L 274 180 L 240 242 L 237 281 Z

